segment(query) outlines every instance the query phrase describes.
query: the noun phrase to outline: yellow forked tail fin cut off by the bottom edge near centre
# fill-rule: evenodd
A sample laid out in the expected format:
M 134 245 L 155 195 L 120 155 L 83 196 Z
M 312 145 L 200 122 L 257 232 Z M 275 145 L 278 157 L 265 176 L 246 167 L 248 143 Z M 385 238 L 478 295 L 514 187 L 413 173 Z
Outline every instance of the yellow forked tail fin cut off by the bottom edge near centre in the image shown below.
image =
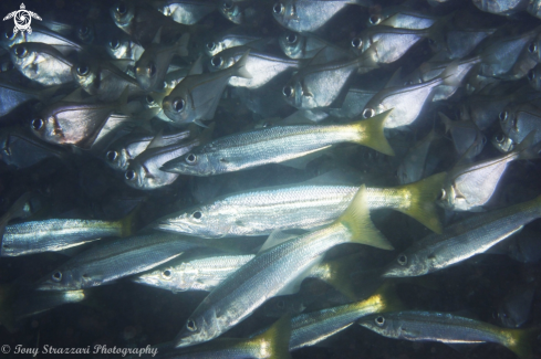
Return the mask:
M 263 334 L 254 337 L 250 341 L 261 341 L 270 351 L 268 358 L 284 359 L 291 358 L 289 353 L 289 341 L 291 338 L 291 316 L 289 314 L 281 317 Z

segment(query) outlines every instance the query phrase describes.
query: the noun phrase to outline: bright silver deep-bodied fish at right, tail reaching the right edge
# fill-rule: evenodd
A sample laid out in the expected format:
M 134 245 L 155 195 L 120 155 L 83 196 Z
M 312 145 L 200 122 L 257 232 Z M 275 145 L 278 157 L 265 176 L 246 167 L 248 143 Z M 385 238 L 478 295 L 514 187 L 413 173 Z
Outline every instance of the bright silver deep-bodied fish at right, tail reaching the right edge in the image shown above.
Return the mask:
M 509 162 L 539 158 L 539 146 L 533 146 L 530 133 L 511 152 L 475 163 L 459 163 L 448 172 L 437 203 L 451 211 L 480 211 L 495 193 Z M 532 147 L 533 146 L 533 147 Z

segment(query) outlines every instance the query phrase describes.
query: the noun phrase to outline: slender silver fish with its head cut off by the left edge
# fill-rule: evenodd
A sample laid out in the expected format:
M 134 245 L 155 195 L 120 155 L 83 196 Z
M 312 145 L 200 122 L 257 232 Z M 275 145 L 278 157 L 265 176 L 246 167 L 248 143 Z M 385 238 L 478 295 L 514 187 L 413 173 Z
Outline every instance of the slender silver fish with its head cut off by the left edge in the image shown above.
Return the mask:
M 7 225 L 0 255 L 18 256 L 62 251 L 103 236 L 127 236 L 133 231 L 132 220 L 132 215 L 128 215 L 114 222 L 54 219 Z

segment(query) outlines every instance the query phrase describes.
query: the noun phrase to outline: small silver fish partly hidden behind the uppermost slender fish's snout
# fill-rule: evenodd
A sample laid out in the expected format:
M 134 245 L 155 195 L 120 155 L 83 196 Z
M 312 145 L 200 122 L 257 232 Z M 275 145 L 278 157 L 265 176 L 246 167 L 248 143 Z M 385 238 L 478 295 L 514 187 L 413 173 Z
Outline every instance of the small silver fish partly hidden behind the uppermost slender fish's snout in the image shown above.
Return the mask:
M 173 183 L 177 173 L 163 171 L 164 162 L 189 152 L 199 145 L 199 139 L 173 144 L 164 147 L 153 147 L 153 144 L 134 158 L 124 172 L 124 182 L 139 190 L 154 190 Z

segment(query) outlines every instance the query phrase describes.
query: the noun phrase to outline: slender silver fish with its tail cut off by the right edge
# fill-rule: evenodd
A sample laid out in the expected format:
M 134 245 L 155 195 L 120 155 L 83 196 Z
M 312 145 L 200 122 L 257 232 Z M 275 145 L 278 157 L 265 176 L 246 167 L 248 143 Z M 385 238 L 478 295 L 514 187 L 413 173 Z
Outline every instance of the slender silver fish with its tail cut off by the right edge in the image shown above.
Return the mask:
M 430 234 L 399 254 L 385 277 L 418 276 L 446 268 L 483 253 L 541 217 L 541 197 L 452 224 Z

